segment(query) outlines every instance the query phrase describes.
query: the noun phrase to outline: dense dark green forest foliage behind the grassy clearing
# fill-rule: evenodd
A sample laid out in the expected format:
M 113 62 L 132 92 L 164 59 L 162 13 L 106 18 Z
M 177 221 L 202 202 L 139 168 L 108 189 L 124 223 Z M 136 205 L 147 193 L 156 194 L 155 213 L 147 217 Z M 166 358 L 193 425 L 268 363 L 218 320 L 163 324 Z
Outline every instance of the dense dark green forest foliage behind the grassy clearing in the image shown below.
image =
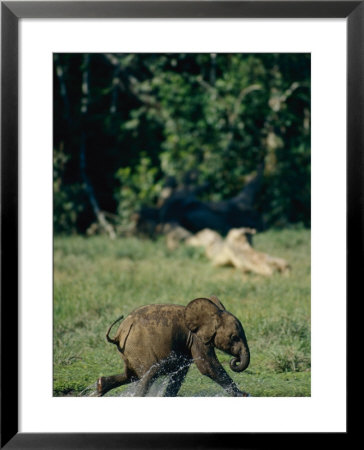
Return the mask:
M 127 223 L 168 177 L 193 169 L 219 201 L 259 164 L 265 224 L 309 225 L 310 55 L 56 54 L 54 161 L 55 232 L 95 220 L 85 173 Z

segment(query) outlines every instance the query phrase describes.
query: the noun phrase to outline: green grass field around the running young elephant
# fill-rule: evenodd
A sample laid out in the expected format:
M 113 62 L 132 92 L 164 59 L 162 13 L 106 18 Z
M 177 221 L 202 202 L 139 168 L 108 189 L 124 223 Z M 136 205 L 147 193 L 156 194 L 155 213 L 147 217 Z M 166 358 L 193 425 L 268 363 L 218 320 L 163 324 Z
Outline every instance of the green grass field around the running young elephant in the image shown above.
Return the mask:
M 172 252 L 163 239 L 56 237 L 54 395 L 79 395 L 99 376 L 122 371 L 116 348 L 105 340 L 121 314 L 215 294 L 247 335 L 251 362 L 245 372 L 233 373 L 230 357 L 217 352 L 241 389 L 259 397 L 310 396 L 310 232 L 269 231 L 258 234 L 254 246 L 288 260 L 291 274 L 262 277 L 215 268 L 202 250 L 181 246 Z M 225 394 L 192 365 L 179 395 Z

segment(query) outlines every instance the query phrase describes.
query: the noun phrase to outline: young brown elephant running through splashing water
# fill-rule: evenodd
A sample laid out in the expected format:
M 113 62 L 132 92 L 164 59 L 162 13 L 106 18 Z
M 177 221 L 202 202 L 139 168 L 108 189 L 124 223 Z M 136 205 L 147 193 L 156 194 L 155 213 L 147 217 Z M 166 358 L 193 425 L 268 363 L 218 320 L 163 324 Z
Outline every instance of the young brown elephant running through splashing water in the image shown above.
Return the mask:
M 110 330 L 121 319 L 110 326 L 106 338 L 120 351 L 125 371 L 100 377 L 97 382 L 99 396 L 140 380 L 135 395 L 143 397 L 157 377 L 169 375 L 164 395 L 174 397 L 192 362 L 230 395 L 248 396 L 239 390 L 216 358 L 214 347 L 232 355 L 230 368 L 234 372 L 245 370 L 250 360 L 241 323 L 225 310 L 217 297 L 196 298 L 186 307 L 142 306 L 126 317 L 111 339 Z

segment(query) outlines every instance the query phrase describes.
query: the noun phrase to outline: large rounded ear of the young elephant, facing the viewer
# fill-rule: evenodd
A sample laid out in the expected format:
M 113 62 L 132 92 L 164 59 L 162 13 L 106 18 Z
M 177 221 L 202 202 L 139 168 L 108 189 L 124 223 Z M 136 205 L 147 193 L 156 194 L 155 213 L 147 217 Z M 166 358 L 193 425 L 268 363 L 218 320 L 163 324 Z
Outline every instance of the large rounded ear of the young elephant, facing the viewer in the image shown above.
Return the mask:
M 210 299 L 196 298 L 185 308 L 185 323 L 204 344 L 208 344 L 221 323 L 221 312 Z

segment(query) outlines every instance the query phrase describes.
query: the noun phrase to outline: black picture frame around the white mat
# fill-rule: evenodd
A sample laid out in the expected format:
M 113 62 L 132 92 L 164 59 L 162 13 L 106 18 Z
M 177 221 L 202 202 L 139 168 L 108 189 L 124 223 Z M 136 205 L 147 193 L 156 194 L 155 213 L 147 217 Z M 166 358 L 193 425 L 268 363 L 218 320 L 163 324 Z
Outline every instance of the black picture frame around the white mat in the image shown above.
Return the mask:
M 1 448 L 256 448 L 274 435 L 248 433 L 19 433 L 18 26 L 22 18 L 346 18 L 347 312 L 363 268 L 363 1 L 1 2 Z M 360 291 L 359 291 L 360 292 Z M 350 346 L 347 346 L 348 351 Z M 348 353 L 349 354 L 349 353 Z M 9 389 L 9 386 L 12 388 Z M 333 394 L 334 395 L 334 394 Z M 348 417 L 348 416 L 347 416 Z M 348 419 L 347 419 L 348 421 Z M 339 443 L 346 433 L 335 437 Z M 294 436 L 293 439 L 297 437 Z M 300 437 L 300 443 L 308 439 Z M 284 446 L 291 435 L 279 436 Z M 317 435 L 315 438 L 317 443 Z

